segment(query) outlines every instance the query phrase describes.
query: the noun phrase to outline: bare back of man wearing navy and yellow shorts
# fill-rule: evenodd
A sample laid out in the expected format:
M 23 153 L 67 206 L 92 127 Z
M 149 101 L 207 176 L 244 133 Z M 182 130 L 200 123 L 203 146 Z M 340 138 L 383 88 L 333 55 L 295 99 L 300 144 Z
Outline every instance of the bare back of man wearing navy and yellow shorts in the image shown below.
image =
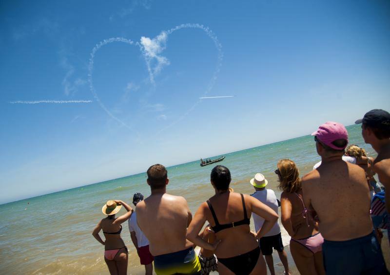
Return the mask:
M 186 240 L 186 229 L 192 215 L 183 197 L 152 194 L 137 204 L 136 212 L 138 226 L 148 238 L 153 256 L 192 246 L 192 242 Z

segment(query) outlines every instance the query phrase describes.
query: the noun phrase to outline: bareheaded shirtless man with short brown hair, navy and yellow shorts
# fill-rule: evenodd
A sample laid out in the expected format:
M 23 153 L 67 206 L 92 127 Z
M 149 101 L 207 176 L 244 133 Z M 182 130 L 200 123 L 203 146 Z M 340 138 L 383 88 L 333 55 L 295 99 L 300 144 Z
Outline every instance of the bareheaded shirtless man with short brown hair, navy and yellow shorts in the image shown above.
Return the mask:
M 151 195 L 137 204 L 137 223 L 148 238 L 157 275 L 199 274 L 200 263 L 193 243 L 186 240 L 192 220 L 187 201 L 166 193 L 167 170 L 161 164 L 149 167 Z

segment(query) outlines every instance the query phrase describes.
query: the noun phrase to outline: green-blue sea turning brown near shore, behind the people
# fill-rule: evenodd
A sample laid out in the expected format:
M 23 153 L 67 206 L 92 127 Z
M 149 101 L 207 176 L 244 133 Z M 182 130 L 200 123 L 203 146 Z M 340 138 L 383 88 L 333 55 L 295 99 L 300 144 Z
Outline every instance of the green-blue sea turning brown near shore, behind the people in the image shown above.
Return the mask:
M 364 143 L 360 125 L 348 126 L 347 130 L 350 144 L 363 147 L 369 156 L 376 156 L 371 146 Z M 301 176 L 320 160 L 312 136 L 225 156 L 218 164 L 230 169 L 231 187 L 235 192 L 252 194 L 254 188 L 249 181 L 255 173 L 261 172 L 269 181 L 267 188 L 273 189 L 279 199 L 281 192 L 274 173 L 278 160 L 292 159 Z M 214 159 L 219 155 L 200 157 Z M 167 192 L 185 197 L 195 214 L 197 207 L 214 193 L 210 184 L 214 166 L 200 167 L 196 160 L 168 167 Z M 103 258 L 104 246 L 93 238 L 92 230 L 104 218 L 101 207 L 107 200 L 131 203 L 136 192 L 145 197 L 150 195 L 146 172 L 0 205 L 0 274 L 109 274 Z M 254 229 L 253 220 L 251 227 Z M 100 235 L 104 238 L 101 232 Z M 289 236 L 284 228 L 282 235 L 283 242 L 288 245 Z M 121 237 L 129 249 L 128 274 L 144 274 L 127 222 L 123 224 Z

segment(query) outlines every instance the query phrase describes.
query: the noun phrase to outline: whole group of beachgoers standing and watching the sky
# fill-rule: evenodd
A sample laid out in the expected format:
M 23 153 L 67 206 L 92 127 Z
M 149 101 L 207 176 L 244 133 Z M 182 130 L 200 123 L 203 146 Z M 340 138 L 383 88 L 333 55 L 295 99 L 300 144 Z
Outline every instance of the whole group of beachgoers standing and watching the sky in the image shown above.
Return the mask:
M 365 142 L 378 153 L 373 161 L 367 158 L 367 164 L 385 188 L 390 188 L 390 114 L 375 109 L 356 122 L 362 123 Z M 138 227 L 148 240 L 141 252 L 134 229 L 132 240 L 141 263 L 147 258 L 143 263 L 147 273 L 152 272 L 154 261 L 157 275 L 208 274 L 216 267 L 224 275 L 261 275 L 267 273 L 266 263 L 273 274 L 275 249 L 289 274 L 277 224 L 280 205 L 281 222 L 292 237 L 290 250 L 302 275 L 388 274 L 370 218 L 372 175 L 343 160 L 348 132 L 342 124 L 326 122 L 312 136 L 321 164 L 301 178 L 292 160 L 280 160 L 275 170 L 282 190 L 280 203 L 273 190 L 266 189 L 268 181 L 261 173 L 251 180 L 254 194 L 239 194 L 229 189 L 229 169 L 218 165 L 210 175 L 215 195 L 202 203 L 193 217 L 185 198 L 166 193 L 169 179 L 165 167 L 152 165 L 147 171 L 151 195 L 137 200 L 136 211 L 122 201 L 107 202 L 102 210 L 108 217 L 94 229 L 94 237 L 105 245 L 110 273 L 127 272 L 127 248 L 119 234 L 120 224 L 130 218 L 129 228 Z M 362 155 L 356 159 L 361 161 Z M 115 219 L 121 206 L 127 213 Z M 386 206 L 390 209 L 389 199 Z M 250 230 L 251 216 L 255 232 Z M 201 232 L 206 222 L 209 225 Z M 105 241 L 98 235 L 101 229 Z M 201 247 L 199 257 L 195 246 Z

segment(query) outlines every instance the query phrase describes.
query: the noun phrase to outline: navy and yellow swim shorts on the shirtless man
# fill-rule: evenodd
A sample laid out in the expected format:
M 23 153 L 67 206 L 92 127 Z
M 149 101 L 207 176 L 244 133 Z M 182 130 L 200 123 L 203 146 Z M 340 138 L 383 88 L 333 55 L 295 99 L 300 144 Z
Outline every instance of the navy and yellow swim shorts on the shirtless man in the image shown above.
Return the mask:
M 195 274 L 200 275 L 200 263 L 194 248 L 155 256 L 157 275 Z

